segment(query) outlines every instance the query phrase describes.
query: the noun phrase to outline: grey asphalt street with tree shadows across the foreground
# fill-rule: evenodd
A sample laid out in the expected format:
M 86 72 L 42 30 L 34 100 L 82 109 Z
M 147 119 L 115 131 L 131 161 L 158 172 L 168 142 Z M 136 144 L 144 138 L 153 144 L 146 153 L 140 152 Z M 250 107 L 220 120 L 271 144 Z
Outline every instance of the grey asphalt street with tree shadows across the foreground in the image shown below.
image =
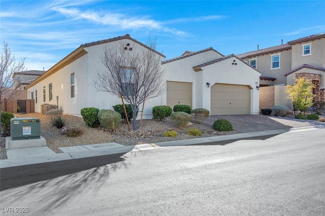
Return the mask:
M 325 215 L 324 132 L 2 168 L 0 213 Z

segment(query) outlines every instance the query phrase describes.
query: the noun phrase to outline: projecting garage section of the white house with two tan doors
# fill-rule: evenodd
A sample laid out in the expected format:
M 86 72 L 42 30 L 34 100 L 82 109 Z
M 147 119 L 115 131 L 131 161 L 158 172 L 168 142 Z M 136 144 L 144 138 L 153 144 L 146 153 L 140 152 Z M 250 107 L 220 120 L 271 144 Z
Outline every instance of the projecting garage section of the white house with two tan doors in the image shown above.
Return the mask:
M 258 114 L 259 73 L 235 55 L 213 48 L 186 51 L 161 63 L 167 81 L 167 105 L 205 108 L 211 115 Z

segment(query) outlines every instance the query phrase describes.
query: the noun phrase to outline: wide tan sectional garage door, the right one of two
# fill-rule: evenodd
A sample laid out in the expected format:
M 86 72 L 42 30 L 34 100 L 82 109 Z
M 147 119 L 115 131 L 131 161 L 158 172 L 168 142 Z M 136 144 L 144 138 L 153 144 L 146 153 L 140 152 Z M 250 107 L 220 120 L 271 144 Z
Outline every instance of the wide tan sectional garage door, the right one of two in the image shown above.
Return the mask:
M 248 86 L 214 84 L 211 87 L 211 115 L 250 114 Z

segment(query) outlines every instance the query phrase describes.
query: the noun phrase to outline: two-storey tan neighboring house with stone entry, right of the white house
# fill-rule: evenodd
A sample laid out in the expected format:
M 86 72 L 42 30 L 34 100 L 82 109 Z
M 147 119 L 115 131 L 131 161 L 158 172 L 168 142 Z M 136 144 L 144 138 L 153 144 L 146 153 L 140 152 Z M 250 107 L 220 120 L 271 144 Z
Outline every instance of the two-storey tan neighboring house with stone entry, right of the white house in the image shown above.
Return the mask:
M 313 90 L 315 102 L 325 101 L 325 33 L 239 54 L 237 57 L 262 73 L 259 77 L 260 109 L 273 105 L 293 108 L 284 93 L 284 86 L 294 84 L 295 79 L 301 77 L 311 79 L 316 85 Z

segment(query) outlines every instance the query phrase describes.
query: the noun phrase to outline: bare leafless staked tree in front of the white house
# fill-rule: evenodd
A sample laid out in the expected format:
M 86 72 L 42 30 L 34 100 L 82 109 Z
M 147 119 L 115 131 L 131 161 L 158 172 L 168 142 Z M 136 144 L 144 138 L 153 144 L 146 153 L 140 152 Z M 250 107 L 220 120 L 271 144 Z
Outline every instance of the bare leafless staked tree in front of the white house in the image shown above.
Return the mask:
M 101 57 L 106 70 L 96 74 L 97 90 L 110 92 L 131 104 L 134 130 L 138 129 L 139 105 L 166 90 L 160 57 L 154 52 L 156 40 L 149 38 L 148 46 L 151 49 L 125 41 L 105 45 Z

